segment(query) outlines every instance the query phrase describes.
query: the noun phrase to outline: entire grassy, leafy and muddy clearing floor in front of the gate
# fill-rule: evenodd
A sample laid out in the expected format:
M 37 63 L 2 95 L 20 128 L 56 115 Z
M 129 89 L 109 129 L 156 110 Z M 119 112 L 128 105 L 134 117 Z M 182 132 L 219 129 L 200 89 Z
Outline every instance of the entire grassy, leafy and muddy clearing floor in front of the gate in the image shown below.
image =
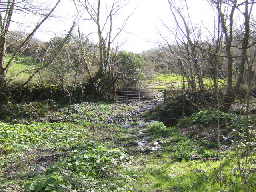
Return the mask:
M 193 122 L 202 119 L 202 126 L 189 132 L 181 124 L 168 128 L 161 122 L 106 123 L 118 114 L 136 120 L 125 112 L 137 108 L 83 103 L 73 105 L 66 114 L 65 107 L 49 102 L 12 106 L 12 114 L 1 114 L 0 191 L 242 191 L 230 140 L 222 141 L 219 186 L 214 114 L 194 115 Z M 13 122 L 13 117 L 18 124 L 4 123 Z M 236 118 L 231 114 L 222 117 L 228 122 Z M 224 136 L 232 138 L 232 131 Z M 246 190 L 254 192 L 256 165 L 249 158 L 245 166 L 242 141 L 239 149 Z

